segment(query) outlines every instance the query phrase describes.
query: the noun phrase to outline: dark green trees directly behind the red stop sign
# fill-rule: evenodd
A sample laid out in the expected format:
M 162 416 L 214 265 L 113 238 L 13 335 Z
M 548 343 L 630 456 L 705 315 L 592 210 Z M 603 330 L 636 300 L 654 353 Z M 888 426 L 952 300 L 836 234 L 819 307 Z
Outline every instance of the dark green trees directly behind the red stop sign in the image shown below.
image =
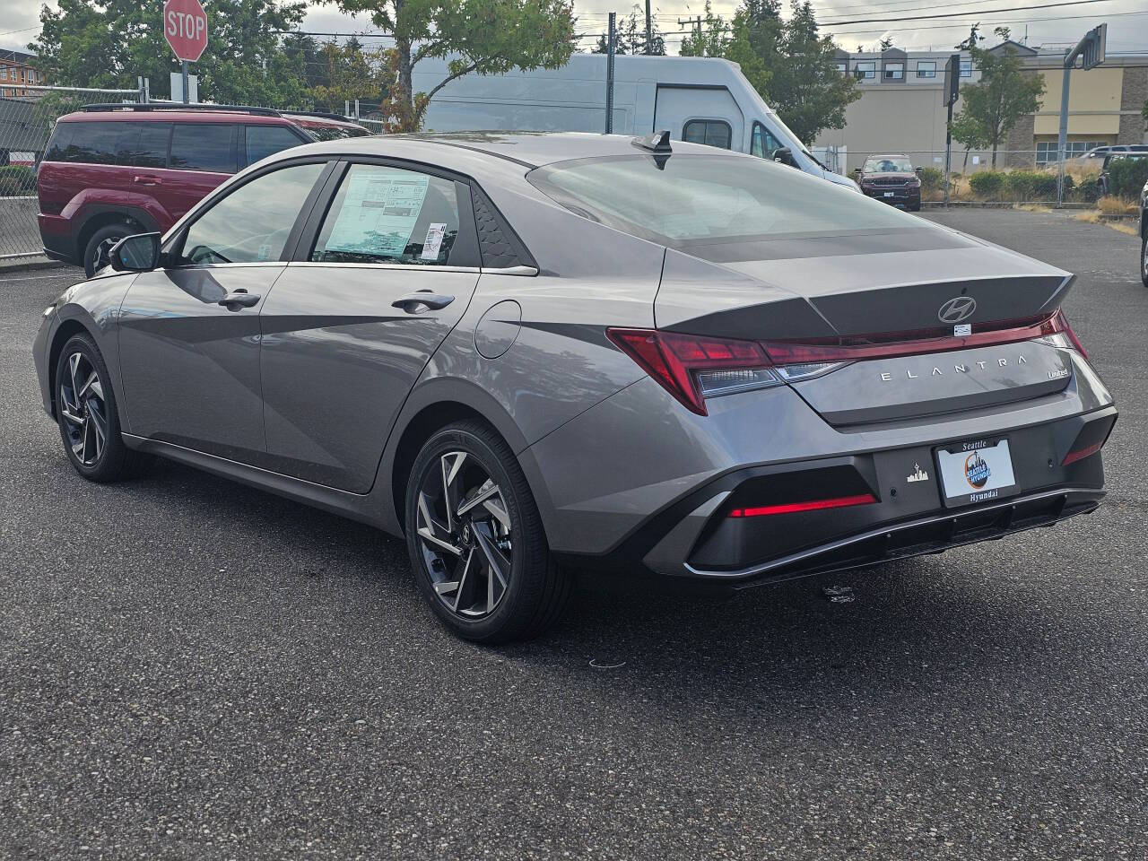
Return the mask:
M 301 54 L 284 51 L 281 33 L 302 22 L 304 2 L 212 0 L 208 49 L 192 67 L 200 96 L 216 102 L 288 106 L 305 100 Z M 36 67 L 64 86 L 134 90 L 137 76 L 166 90 L 179 61 L 163 38 L 158 3 L 61 0 L 40 9 L 41 31 L 29 47 Z

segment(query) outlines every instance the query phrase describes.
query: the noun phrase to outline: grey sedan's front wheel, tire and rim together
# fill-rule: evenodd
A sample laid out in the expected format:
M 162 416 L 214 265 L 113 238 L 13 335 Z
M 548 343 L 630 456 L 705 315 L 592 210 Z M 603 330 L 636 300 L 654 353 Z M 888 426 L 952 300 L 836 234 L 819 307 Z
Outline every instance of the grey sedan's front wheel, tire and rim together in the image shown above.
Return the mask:
M 119 481 L 146 463 L 119 435 L 119 413 L 111 374 L 88 335 L 64 344 L 56 362 L 56 421 L 64 453 L 88 481 Z

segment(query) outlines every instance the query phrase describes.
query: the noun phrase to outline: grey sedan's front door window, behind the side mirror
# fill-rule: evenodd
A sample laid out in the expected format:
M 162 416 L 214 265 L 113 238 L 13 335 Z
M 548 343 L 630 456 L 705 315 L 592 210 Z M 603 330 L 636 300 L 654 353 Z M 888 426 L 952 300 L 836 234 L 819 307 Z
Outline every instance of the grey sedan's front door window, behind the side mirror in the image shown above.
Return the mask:
M 219 200 L 187 228 L 181 262 L 202 265 L 280 259 L 324 166 L 298 164 L 264 173 Z

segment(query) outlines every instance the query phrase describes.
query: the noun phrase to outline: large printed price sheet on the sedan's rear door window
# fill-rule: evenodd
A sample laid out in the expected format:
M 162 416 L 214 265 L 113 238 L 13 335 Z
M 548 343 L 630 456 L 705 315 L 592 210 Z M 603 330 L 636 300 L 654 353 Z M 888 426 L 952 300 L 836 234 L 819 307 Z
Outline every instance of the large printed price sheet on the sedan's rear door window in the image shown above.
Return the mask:
M 331 230 L 326 250 L 402 257 L 422 209 L 429 177 L 410 171 L 374 170 L 370 173 L 352 171 L 347 179 L 347 197 Z M 429 241 L 429 233 L 427 238 Z

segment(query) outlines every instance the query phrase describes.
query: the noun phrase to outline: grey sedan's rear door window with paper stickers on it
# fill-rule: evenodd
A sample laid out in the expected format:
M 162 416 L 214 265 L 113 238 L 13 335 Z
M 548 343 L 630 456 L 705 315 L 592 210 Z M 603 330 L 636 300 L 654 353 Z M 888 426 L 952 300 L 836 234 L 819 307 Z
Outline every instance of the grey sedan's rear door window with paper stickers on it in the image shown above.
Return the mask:
M 331 202 L 310 259 L 444 265 L 458 225 L 458 195 L 451 180 L 352 164 Z

